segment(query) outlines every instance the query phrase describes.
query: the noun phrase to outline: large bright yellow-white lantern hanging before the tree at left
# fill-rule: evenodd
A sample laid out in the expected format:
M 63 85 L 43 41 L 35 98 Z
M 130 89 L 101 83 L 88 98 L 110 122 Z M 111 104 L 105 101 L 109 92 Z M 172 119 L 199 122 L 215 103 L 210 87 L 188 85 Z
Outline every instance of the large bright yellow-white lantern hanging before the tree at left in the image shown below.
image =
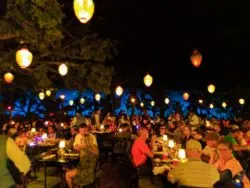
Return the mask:
M 16 62 L 21 68 L 30 66 L 32 59 L 32 53 L 26 48 L 22 48 L 16 52 Z

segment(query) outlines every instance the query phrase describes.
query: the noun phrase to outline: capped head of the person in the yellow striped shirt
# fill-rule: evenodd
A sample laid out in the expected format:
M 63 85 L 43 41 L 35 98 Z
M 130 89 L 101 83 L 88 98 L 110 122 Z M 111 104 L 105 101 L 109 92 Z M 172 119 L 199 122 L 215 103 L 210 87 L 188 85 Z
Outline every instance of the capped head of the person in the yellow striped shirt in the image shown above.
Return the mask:
M 188 140 L 186 143 L 186 154 L 188 158 L 200 159 L 202 147 L 200 142 L 196 140 Z

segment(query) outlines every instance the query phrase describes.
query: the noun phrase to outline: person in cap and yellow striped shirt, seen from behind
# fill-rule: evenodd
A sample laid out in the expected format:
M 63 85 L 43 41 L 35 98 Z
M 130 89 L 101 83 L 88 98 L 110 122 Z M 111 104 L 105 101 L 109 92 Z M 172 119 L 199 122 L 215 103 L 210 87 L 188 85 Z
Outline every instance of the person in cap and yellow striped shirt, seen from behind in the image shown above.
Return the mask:
M 186 155 L 188 161 L 179 163 L 169 171 L 168 180 L 178 183 L 179 186 L 213 187 L 219 181 L 220 175 L 217 169 L 201 161 L 202 147 L 196 140 L 186 143 Z

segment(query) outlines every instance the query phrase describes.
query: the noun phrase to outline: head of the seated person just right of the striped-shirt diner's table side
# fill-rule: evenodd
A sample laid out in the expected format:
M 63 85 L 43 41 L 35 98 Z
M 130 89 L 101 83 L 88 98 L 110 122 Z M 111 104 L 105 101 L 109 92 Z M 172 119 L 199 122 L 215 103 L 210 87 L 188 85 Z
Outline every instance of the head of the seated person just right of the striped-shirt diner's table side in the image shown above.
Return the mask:
M 227 160 L 233 156 L 233 145 L 227 140 L 221 140 L 218 144 L 218 153 L 221 159 Z

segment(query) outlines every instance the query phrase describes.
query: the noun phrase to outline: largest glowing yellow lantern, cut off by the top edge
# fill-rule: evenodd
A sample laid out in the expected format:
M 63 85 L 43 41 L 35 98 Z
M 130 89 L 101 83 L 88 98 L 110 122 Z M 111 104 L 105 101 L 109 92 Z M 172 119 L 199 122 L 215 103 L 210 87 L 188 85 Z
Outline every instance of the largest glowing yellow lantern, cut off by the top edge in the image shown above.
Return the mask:
M 93 0 L 74 0 L 75 15 L 81 23 L 87 23 L 92 18 L 94 10 Z

